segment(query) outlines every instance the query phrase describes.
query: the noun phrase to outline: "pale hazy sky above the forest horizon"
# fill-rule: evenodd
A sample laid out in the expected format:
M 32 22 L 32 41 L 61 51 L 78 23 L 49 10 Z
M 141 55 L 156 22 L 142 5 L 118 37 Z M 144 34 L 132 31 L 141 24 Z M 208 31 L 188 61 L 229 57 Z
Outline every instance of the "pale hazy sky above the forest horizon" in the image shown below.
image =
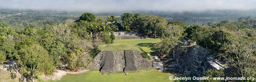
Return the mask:
M 256 0 L 0 0 L 0 8 L 60 11 L 256 9 Z

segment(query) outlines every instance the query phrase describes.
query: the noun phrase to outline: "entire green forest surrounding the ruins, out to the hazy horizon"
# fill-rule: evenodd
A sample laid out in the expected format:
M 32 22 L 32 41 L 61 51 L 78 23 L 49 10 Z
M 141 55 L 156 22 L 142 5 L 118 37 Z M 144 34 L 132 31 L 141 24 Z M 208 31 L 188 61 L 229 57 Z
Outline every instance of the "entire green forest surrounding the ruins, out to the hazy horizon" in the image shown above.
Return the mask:
M 181 48 L 180 39 L 187 37 L 209 49 L 229 66 L 224 71 L 208 70 L 204 76 L 256 76 L 255 17 L 189 25 L 152 14 L 124 13 L 120 18 L 103 18 L 91 13 L 77 17 L 31 11 L 3 17 L 3 12 L 0 62 L 18 61 L 21 65 L 19 72 L 27 79 L 37 78 L 37 74 L 50 75 L 56 69 L 85 68 L 94 57 L 87 52 L 97 50 L 98 45 L 113 43 L 115 35 L 112 32 L 118 31 L 118 26 L 106 22 L 118 20 L 124 31 L 138 31 L 146 38 L 162 38 L 155 45 L 160 55 L 174 57 L 172 53 Z

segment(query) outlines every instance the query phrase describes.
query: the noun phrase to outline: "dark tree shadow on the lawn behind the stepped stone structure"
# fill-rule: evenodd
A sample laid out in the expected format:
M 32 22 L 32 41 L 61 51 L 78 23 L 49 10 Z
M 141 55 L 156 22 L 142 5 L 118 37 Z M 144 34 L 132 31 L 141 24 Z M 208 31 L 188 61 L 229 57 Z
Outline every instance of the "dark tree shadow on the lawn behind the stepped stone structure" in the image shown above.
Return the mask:
M 155 48 L 156 43 L 138 43 L 139 47 L 148 47 L 153 52 L 150 52 L 150 55 L 154 56 L 157 53 L 157 49 Z

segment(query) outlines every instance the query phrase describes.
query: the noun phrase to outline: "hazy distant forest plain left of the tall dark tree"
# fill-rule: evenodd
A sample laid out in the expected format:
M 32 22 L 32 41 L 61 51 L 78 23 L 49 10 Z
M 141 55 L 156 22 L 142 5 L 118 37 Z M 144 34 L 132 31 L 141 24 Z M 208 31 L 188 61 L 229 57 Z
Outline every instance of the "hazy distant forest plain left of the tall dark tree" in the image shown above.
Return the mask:
M 41 26 L 45 23 L 63 23 L 67 19 L 77 19 L 80 13 L 66 11 L 0 10 L 0 22 L 23 28 L 28 25 Z

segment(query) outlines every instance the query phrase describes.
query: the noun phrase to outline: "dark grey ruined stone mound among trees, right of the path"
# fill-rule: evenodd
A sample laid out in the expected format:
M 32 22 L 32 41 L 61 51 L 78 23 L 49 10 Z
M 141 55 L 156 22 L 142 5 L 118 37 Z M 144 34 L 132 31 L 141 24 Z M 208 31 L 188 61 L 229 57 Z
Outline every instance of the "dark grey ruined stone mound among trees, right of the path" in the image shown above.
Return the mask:
M 199 45 L 186 47 L 184 54 L 177 57 L 176 61 L 168 64 L 168 68 L 178 70 L 183 76 L 202 76 L 207 69 L 223 69 L 215 62 L 215 55 Z

